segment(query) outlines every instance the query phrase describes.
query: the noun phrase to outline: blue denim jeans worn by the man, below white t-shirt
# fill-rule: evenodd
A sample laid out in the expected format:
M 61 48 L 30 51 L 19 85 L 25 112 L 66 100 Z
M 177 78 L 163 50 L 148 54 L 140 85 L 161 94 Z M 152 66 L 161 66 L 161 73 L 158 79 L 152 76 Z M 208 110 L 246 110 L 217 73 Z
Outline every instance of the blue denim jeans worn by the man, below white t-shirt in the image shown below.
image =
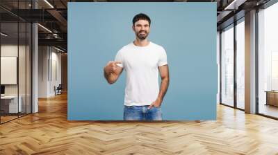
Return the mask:
M 162 120 L 161 107 L 124 106 L 124 120 Z

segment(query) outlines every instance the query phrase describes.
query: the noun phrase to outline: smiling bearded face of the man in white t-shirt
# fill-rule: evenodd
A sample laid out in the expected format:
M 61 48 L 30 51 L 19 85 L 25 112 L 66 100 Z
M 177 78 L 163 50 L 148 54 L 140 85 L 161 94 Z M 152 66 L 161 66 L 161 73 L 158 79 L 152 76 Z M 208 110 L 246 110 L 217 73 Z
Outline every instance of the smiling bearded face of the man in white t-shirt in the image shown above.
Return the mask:
M 139 39 L 143 40 L 146 39 L 146 37 L 149 35 L 149 21 L 147 20 L 138 20 L 136 21 L 136 23 L 134 24 L 134 26 L 132 26 L 134 33 L 136 34 L 136 37 L 138 37 Z

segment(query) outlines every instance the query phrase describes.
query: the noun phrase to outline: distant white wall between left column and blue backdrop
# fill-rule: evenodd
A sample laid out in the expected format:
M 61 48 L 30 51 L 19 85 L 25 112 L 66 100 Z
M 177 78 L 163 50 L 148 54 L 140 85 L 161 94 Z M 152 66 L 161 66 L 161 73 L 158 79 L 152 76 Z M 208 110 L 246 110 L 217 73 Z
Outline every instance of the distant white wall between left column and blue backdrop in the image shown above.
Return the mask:
M 39 46 L 38 62 L 38 97 L 54 96 L 54 86 L 61 83 L 61 53 L 50 46 Z

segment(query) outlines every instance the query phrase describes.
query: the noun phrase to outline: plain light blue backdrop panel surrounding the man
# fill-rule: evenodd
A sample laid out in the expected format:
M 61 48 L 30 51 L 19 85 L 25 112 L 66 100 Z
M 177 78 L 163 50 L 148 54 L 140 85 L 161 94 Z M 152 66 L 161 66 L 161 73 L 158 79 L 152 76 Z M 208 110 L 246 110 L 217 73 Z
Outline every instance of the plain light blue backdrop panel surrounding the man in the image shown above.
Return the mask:
M 125 71 L 111 85 L 103 68 L 135 39 L 140 12 L 152 20 L 149 40 L 167 53 L 163 120 L 215 120 L 216 3 L 200 2 L 69 3 L 68 120 L 123 119 Z

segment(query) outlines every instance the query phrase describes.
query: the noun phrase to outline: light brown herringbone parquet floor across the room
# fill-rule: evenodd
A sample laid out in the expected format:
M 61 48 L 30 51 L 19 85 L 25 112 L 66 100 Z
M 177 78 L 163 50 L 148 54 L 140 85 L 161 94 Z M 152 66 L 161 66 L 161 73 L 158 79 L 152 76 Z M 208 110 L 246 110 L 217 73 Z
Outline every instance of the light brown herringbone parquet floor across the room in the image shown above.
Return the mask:
M 218 105 L 215 121 L 67 121 L 67 95 L 0 125 L 0 154 L 278 154 L 278 121 Z

